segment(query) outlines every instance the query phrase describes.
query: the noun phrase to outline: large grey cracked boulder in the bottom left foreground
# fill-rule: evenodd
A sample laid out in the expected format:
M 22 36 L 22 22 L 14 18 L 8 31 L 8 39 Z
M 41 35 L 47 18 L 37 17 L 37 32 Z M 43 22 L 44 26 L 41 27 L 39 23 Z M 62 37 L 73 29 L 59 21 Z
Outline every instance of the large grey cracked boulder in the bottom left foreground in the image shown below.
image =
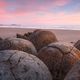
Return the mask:
M 0 51 L 0 80 L 52 80 L 46 65 L 36 56 L 17 51 Z

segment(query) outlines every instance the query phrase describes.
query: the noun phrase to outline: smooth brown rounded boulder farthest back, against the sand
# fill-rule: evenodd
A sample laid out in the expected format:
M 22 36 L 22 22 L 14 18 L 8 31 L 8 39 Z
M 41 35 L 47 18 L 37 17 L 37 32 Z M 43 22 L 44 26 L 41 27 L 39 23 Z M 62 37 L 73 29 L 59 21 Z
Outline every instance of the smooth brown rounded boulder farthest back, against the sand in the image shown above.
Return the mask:
M 35 30 L 30 36 L 29 40 L 34 44 L 37 51 L 42 47 L 47 46 L 52 42 L 57 42 L 57 38 L 54 33 L 45 30 Z

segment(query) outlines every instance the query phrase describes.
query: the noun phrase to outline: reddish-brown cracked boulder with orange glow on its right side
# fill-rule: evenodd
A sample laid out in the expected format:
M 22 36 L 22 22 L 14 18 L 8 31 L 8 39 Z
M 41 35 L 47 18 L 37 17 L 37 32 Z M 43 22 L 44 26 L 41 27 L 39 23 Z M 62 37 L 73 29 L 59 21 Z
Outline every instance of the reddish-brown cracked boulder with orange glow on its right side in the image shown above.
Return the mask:
M 38 52 L 38 57 L 49 68 L 53 80 L 63 80 L 72 66 L 80 59 L 80 51 L 67 43 L 51 43 Z

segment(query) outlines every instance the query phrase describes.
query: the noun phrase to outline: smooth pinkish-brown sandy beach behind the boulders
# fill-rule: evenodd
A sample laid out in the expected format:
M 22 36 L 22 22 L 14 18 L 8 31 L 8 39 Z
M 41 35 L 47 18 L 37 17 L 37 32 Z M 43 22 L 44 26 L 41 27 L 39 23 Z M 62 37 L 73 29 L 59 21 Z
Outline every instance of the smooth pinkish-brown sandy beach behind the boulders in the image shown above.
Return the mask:
M 0 28 L 0 37 L 15 37 L 16 33 L 27 33 L 32 32 L 35 29 L 25 29 L 25 28 Z M 48 30 L 48 29 L 47 29 Z M 55 30 L 49 29 L 49 31 L 55 33 L 59 41 L 64 42 L 76 42 L 80 40 L 80 31 L 79 30 Z

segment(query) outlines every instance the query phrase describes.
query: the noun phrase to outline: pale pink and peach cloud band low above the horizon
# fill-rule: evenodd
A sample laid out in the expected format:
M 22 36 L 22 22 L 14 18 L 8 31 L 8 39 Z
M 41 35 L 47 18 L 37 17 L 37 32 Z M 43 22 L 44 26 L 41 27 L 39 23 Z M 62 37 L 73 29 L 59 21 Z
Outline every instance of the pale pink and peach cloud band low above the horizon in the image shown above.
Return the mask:
M 80 25 L 80 14 L 65 14 L 60 12 L 57 14 L 52 14 L 49 12 L 44 12 L 42 15 L 38 15 L 36 12 L 28 12 L 24 15 L 15 14 L 3 14 L 0 15 L 0 22 L 3 23 L 17 23 L 26 25 Z

